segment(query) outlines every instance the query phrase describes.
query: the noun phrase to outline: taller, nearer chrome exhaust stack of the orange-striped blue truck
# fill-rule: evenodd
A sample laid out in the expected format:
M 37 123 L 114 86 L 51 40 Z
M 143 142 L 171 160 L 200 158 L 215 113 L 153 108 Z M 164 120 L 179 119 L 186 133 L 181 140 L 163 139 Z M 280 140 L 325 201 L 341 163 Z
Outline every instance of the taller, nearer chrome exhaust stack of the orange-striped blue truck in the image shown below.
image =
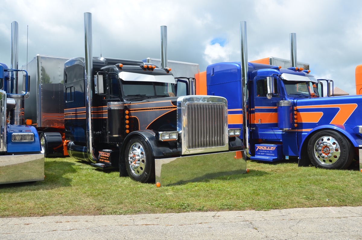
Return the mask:
M 248 141 L 248 43 L 247 43 L 247 22 L 240 22 L 240 63 L 241 63 L 241 84 L 243 89 L 243 143 L 245 148 L 249 148 Z M 247 153 L 249 151 L 246 151 Z

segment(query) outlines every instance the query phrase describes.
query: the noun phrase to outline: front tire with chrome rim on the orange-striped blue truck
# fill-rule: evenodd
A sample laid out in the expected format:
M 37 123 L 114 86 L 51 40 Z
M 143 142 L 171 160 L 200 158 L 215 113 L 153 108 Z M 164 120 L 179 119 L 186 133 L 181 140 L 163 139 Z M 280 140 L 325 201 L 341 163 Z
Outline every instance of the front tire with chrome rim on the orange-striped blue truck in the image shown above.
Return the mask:
M 315 167 L 346 169 L 353 161 L 354 149 L 345 136 L 335 131 L 324 130 L 310 138 L 308 157 Z

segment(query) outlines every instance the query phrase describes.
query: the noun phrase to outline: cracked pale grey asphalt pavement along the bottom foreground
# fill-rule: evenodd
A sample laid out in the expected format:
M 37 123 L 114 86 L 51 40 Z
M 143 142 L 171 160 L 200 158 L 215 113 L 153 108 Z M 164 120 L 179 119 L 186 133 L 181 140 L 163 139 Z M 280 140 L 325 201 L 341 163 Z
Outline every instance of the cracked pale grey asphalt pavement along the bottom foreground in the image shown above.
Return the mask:
M 362 206 L 0 218 L 0 239 L 362 239 Z

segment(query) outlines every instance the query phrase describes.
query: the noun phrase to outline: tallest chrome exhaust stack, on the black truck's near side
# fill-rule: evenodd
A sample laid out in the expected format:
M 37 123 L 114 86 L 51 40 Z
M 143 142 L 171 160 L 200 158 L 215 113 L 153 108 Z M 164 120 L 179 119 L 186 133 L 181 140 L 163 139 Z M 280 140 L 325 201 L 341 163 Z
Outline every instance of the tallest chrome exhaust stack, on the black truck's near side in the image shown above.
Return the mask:
M 87 155 L 89 162 L 96 162 L 97 158 L 93 151 L 93 130 L 92 130 L 92 73 L 93 73 L 93 54 L 92 54 L 92 13 L 84 13 L 84 86 L 85 86 L 85 124 L 87 131 Z

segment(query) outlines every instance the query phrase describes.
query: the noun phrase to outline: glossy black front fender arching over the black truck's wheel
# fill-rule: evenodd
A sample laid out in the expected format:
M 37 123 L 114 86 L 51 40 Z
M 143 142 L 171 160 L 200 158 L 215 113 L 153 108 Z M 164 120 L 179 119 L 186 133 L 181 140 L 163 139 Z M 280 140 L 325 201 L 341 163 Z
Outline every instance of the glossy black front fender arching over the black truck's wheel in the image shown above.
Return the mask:
M 123 141 L 121 152 L 125 152 L 127 142 L 134 136 L 142 137 L 150 146 L 153 157 L 165 157 L 164 153 L 175 152 L 176 148 L 172 149 L 168 142 L 159 141 L 156 138 L 156 133 L 151 130 L 140 130 L 131 132 Z

